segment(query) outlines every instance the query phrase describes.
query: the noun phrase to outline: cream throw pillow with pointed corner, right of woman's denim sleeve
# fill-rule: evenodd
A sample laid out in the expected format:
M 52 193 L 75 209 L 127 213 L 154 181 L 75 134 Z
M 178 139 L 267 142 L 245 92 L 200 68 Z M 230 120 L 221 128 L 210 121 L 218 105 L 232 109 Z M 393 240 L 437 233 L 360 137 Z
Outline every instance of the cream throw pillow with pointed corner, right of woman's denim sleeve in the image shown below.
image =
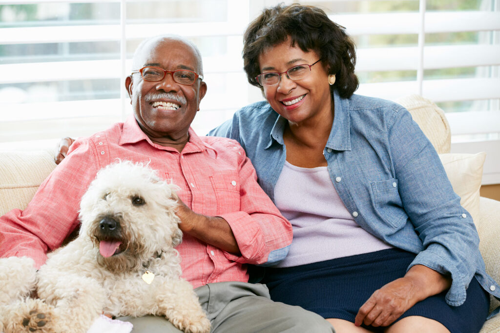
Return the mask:
M 479 189 L 486 153 L 439 154 L 453 191 L 474 222 L 479 221 Z M 478 224 L 476 223 L 476 227 Z

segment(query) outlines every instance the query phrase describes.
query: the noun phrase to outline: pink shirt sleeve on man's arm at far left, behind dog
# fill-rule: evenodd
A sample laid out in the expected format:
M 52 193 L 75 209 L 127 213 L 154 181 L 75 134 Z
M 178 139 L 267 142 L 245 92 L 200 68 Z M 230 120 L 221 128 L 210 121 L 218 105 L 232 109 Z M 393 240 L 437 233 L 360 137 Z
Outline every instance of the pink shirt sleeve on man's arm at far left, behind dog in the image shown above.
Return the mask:
M 38 188 L 26 209 L 0 217 L 0 257 L 29 257 L 39 268 L 47 251 L 59 247 L 78 225 L 79 201 L 96 174 L 87 142 L 76 141 L 68 156 Z

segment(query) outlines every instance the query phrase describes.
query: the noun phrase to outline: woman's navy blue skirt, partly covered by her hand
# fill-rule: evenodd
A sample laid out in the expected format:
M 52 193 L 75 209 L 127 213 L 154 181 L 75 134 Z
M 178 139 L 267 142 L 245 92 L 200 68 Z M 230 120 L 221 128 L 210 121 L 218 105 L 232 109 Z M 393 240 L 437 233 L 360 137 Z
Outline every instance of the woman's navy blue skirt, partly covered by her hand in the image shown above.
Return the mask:
M 269 288 L 273 301 L 300 306 L 323 318 L 354 323 L 357 311 L 371 294 L 403 277 L 414 258 L 404 250 L 387 249 L 308 265 L 266 268 L 262 283 Z M 477 280 L 472 279 L 465 303 L 459 307 L 447 305 L 445 295 L 443 292 L 418 302 L 398 320 L 420 316 L 441 323 L 451 333 L 479 332 L 488 315 L 489 295 Z

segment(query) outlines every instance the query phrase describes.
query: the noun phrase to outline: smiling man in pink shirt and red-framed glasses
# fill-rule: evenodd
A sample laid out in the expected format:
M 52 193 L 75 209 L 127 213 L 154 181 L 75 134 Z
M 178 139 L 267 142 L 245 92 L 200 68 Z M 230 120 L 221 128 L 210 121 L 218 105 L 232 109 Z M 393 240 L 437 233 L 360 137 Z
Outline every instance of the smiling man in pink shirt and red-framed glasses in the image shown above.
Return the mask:
M 246 264 L 284 258 L 290 224 L 256 182 L 236 141 L 198 137 L 190 124 L 206 92 L 199 51 L 179 37 L 142 42 L 125 87 L 133 116 L 78 139 L 24 211 L 0 218 L 0 256 L 41 266 L 78 225 L 77 207 L 97 171 L 116 158 L 150 161 L 180 187 L 183 277 L 199 297 L 212 332 L 333 332 L 321 317 L 270 301 L 249 284 Z M 179 332 L 163 318 L 125 318 L 134 332 Z

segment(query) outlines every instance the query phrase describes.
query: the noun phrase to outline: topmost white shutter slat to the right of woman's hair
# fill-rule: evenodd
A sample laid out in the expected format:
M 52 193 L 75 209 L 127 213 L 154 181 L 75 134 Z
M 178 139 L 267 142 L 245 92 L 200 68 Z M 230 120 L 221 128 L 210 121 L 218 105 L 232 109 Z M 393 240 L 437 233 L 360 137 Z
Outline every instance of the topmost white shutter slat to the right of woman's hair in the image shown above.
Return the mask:
M 346 27 L 350 35 L 418 33 L 418 12 L 328 15 Z M 395 28 L 397 27 L 397 28 Z M 426 12 L 425 32 L 500 30 L 500 12 L 452 11 Z

